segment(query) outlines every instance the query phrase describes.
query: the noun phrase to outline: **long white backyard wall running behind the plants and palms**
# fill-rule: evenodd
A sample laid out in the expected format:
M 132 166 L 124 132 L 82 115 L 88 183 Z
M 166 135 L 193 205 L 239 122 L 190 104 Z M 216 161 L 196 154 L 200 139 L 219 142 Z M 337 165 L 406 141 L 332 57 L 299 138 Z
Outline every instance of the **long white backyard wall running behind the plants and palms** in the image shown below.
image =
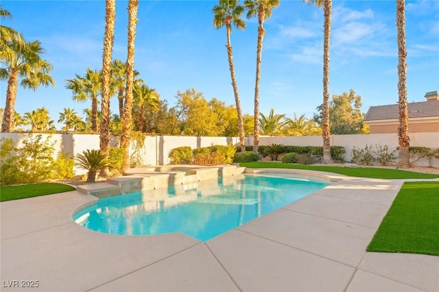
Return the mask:
M 16 147 L 22 145 L 23 140 L 31 134 L 27 133 L 1 133 L 1 138 L 12 138 Z M 99 149 L 99 135 L 92 134 L 32 134 L 41 135 L 43 139 L 49 138 L 54 143 L 57 156 L 60 151 L 70 154 L 72 157 L 82 153 L 85 149 Z M 189 146 L 192 149 L 208 147 L 211 145 L 239 145 L 238 137 L 200 137 L 200 136 L 146 136 L 143 145 L 132 140 L 130 156 L 137 158 L 139 165 L 167 165 L 169 164 L 168 154 L 171 149 L 181 146 Z M 322 146 L 321 136 L 260 136 L 259 145 L 283 144 L 296 146 Z M 246 145 L 253 144 L 253 137 L 246 138 Z M 363 149 L 368 146 L 387 145 L 389 151 L 395 151 L 397 156 L 398 136 L 396 134 L 359 134 L 359 135 L 332 135 L 331 145 L 342 146 L 346 149 L 344 159 L 351 161 L 353 149 Z M 439 132 L 411 133 L 410 145 L 418 147 L 439 147 Z M 117 138 L 112 136 L 110 146 L 117 147 Z M 415 162 L 418 166 L 428 166 L 427 159 Z M 433 167 L 439 167 L 439 159 L 434 159 Z M 83 169 L 75 167 L 75 174 L 86 173 Z

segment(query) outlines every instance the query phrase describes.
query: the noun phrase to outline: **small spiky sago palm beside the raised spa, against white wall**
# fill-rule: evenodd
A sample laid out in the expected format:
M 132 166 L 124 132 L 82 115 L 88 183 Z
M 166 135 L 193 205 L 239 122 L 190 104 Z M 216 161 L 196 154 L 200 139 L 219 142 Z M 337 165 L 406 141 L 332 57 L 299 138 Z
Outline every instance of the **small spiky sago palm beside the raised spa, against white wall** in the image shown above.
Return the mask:
M 88 170 L 86 182 L 95 182 L 97 171 L 111 167 L 108 158 L 98 149 L 86 149 L 76 154 L 78 166 Z

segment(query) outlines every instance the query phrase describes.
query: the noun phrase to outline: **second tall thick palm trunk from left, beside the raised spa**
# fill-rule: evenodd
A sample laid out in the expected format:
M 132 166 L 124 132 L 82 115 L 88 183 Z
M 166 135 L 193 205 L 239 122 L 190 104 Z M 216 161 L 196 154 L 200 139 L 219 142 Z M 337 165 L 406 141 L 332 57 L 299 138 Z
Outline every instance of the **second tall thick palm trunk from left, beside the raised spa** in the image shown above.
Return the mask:
M 136 38 L 137 8 L 139 0 L 128 1 L 128 53 L 126 59 L 126 90 L 125 104 L 122 115 L 121 147 L 123 153 L 122 170 L 130 168 L 130 138 L 132 127 L 132 88 L 134 83 L 134 40 Z

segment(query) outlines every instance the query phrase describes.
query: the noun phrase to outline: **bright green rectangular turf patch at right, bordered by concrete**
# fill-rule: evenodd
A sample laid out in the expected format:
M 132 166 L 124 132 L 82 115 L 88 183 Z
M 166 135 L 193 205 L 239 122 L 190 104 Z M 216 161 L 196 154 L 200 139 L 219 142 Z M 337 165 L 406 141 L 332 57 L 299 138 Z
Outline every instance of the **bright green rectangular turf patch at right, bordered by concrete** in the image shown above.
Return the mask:
M 439 256 L 439 182 L 405 182 L 368 252 Z

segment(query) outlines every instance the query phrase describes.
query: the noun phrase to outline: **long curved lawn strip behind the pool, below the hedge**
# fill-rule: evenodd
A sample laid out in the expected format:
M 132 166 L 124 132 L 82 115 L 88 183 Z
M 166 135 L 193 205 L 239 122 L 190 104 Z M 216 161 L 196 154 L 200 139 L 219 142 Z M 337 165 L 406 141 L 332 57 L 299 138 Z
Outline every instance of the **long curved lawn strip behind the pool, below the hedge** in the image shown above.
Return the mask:
M 437 174 L 418 173 L 404 171 L 401 169 L 384 169 L 377 167 L 333 167 L 321 165 L 295 165 L 278 162 L 244 162 L 239 164 L 241 167 L 250 169 L 259 168 L 278 168 L 278 169 L 307 169 L 313 171 L 327 171 L 343 175 L 355 176 L 359 178 L 383 178 L 383 179 L 407 179 L 407 178 L 439 178 Z

